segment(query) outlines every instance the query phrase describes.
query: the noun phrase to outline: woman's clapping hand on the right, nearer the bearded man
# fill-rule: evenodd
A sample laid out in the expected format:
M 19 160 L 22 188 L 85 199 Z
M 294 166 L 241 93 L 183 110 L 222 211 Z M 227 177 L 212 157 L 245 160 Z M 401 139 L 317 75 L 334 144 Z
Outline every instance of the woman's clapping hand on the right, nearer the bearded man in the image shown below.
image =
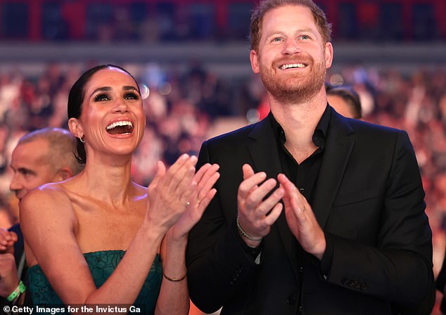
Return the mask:
M 186 211 L 181 214 L 177 223 L 167 232 L 171 241 L 186 240 L 189 231 L 200 220 L 210 200 L 217 193 L 217 190 L 212 188 L 212 186 L 219 179 L 220 174 L 217 172 L 218 169 L 219 165 L 210 165 L 207 163 L 200 167 L 195 176 L 193 176 L 193 181 L 196 181 L 198 184 L 191 195 Z

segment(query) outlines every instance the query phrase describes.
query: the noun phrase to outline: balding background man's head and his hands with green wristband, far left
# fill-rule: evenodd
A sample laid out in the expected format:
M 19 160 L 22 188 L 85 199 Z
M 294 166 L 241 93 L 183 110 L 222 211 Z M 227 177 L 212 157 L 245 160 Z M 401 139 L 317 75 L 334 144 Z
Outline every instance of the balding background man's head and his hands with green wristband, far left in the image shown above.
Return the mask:
M 20 138 L 11 159 L 11 191 L 21 200 L 37 186 L 79 173 L 83 165 L 75 158 L 75 148 L 75 137 L 60 128 L 39 129 Z M 0 253 L 0 302 L 30 304 L 20 224 L 0 230 Z M 20 296 L 15 297 L 15 290 Z

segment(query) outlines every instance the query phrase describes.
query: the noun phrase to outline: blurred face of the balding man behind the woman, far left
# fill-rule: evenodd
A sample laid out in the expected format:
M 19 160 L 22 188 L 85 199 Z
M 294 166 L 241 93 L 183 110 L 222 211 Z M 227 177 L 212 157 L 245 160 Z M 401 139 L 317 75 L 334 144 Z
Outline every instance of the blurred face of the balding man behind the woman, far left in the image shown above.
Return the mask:
M 20 143 L 13 150 L 11 168 L 14 176 L 9 189 L 19 200 L 22 200 L 28 191 L 56 181 L 57 172 L 47 160 L 48 151 L 49 143 L 44 139 Z

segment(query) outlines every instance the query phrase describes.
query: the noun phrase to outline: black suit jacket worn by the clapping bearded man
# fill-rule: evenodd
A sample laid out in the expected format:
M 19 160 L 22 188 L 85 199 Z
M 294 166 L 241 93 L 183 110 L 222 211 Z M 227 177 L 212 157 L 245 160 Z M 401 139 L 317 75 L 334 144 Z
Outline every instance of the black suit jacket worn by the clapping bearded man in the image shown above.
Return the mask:
M 432 233 L 409 137 L 334 110 L 312 203 L 332 255 L 319 262 L 299 252 L 282 212 L 255 264 L 234 227 L 237 191 L 244 163 L 268 177 L 282 172 L 270 120 L 203 143 L 198 167 L 217 163 L 221 177 L 189 235 L 192 301 L 207 312 L 223 306 L 222 314 L 256 315 L 396 314 L 396 308 L 415 314 L 424 301 L 428 314 Z

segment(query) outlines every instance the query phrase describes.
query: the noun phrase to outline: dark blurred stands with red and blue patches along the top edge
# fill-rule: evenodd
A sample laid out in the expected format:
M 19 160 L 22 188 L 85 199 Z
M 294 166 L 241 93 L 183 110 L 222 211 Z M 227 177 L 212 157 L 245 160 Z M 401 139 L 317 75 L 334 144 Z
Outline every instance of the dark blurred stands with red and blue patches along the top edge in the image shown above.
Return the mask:
M 246 40 L 256 1 L 0 1 L 0 39 L 96 42 Z M 443 0 L 315 1 L 338 41 L 442 41 Z M 38 9 L 36 9 L 38 8 Z

